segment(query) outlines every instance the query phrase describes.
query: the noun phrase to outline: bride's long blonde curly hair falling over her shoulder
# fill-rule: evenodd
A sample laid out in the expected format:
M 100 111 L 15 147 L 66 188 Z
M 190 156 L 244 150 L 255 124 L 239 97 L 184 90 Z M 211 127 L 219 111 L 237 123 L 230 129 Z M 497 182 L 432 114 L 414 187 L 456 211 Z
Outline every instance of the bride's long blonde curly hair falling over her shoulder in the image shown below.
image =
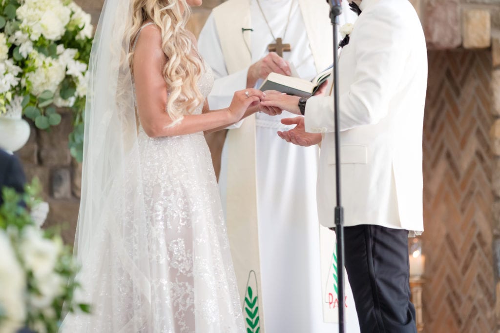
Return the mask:
M 186 29 L 191 10 L 186 0 L 132 0 L 132 17 L 125 30 L 129 41 L 128 65 L 132 70 L 133 43 L 140 27 L 152 21 L 161 30 L 161 49 L 167 61 L 163 77 L 168 85 L 166 112 L 175 124 L 203 102 L 196 83 L 202 62 Z M 182 10 L 184 8 L 184 10 Z

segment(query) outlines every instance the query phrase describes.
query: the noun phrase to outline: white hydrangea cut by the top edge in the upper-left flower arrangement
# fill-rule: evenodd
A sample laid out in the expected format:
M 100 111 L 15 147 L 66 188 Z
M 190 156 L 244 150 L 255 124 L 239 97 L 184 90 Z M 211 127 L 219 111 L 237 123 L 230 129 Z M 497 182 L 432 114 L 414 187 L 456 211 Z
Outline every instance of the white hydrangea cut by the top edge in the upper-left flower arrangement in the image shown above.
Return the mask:
M 31 40 L 38 40 L 41 35 L 57 40 L 65 32 L 71 9 L 61 0 L 24 0 L 16 14 L 21 20 L 21 30 L 28 31 Z

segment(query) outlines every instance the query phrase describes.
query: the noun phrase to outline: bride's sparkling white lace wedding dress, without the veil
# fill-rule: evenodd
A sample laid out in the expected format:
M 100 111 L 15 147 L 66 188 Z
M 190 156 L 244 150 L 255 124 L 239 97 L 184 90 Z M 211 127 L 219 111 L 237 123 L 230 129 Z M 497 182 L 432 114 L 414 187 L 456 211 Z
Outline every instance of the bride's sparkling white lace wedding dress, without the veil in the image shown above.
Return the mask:
M 211 69 L 205 67 L 198 82 L 204 97 L 213 83 Z M 175 332 L 243 332 L 217 182 L 203 133 L 150 138 L 139 127 L 138 144 L 147 237 L 154 254 L 154 320 L 148 332 L 173 332 L 172 327 Z M 165 311 L 172 311 L 174 323 L 164 321 Z

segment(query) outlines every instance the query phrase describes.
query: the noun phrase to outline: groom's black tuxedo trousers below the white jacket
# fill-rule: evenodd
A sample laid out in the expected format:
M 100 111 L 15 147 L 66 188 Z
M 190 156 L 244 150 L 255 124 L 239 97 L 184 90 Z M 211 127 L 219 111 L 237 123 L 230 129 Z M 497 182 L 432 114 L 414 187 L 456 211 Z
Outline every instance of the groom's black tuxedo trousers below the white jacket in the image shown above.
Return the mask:
M 345 227 L 345 269 L 361 333 L 416 333 L 410 301 L 408 231 Z

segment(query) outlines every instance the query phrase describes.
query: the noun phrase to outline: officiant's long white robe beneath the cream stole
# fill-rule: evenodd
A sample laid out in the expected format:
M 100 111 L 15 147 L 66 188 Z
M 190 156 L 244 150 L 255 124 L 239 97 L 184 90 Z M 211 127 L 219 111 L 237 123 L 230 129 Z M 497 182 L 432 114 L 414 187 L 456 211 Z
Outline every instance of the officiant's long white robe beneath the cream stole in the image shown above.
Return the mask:
M 227 2 L 231 1 L 234 0 Z M 248 46 L 251 62 L 248 51 L 248 64 L 264 57 L 268 53 L 267 45 L 274 42 L 256 1 L 249 2 L 250 17 L 241 11 L 233 11 L 234 15 L 242 17 L 242 24 L 248 24 L 242 27 L 253 29 L 252 32 L 244 32 L 250 37 Z M 345 17 L 353 22 L 356 15 L 347 10 L 347 3 L 344 2 L 345 14 L 341 17 L 341 22 L 345 22 Z M 283 57 L 294 65 L 300 77 L 310 79 L 331 64 L 331 26 L 328 6 L 324 0 L 260 0 L 260 3 L 276 37 L 283 37 L 290 4 L 292 5 L 290 23 L 283 38 L 283 43 L 291 44 L 291 52 L 284 52 Z M 312 42 L 306 33 L 302 16 L 305 6 L 324 8 L 324 14 L 318 17 L 312 18 L 310 11 L 308 13 L 309 21 L 317 20 L 312 22 L 316 29 L 314 33 L 317 33 L 312 39 L 316 42 L 322 39 L 326 44 L 321 45 L 321 48 L 311 47 Z M 246 87 L 248 67 L 229 74 L 231 69 L 228 67 L 231 64 L 226 61 L 228 52 L 224 54 L 219 35 L 223 24 L 216 22 L 214 16 L 213 13 L 210 14 L 199 35 L 198 49 L 216 77 L 208 103 L 211 109 L 219 109 L 229 105 L 235 90 Z M 227 33 L 242 40 L 243 33 L 238 28 L 236 32 Z M 325 30 L 322 31 L 322 28 Z M 240 43 L 241 40 L 236 41 L 247 52 L 246 46 Z M 314 54 L 323 49 L 330 51 L 327 54 Z M 256 87 L 260 83 L 261 80 L 258 80 Z M 319 227 L 315 195 L 319 151 L 317 146 L 299 147 L 277 136 L 276 131 L 288 129 L 280 123 L 280 119 L 290 116 L 293 115 L 283 112 L 280 116 L 271 117 L 258 113 L 255 117 L 256 206 L 264 328 L 269 333 L 335 332 L 336 324 L 323 323 L 321 306 Z M 232 128 L 239 126 L 241 123 Z M 230 139 L 229 133 L 222 151 L 219 176 L 224 210 L 228 185 L 227 165 L 236 162 L 228 161 L 227 158 L 227 143 Z M 249 176 L 251 175 L 241 174 L 238 183 Z M 240 203 L 244 204 L 245 202 Z M 333 237 L 333 233 L 329 233 Z M 230 234 L 229 231 L 229 237 Z M 239 287 L 244 289 L 244 286 Z M 351 305 L 347 325 L 349 332 L 356 332 L 357 318 L 353 304 Z

